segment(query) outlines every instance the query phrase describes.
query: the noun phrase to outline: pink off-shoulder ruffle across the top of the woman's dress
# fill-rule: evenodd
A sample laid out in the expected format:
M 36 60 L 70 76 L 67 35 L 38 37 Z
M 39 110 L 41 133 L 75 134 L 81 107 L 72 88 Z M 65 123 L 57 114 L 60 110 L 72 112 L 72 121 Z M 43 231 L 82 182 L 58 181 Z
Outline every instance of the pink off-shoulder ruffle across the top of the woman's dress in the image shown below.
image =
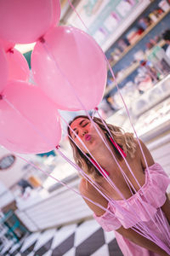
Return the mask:
M 94 218 L 105 231 L 117 230 L 121 226 L 128 229 L 140 222 L 148 222 L 165 203 L 169 184 L 167 173 L 155 163 L 145 170 L 145 183 L 135 195 L 126 201 L 115 201 L 116 204 L 109 201 L 107 209 L 111 213 L 105 212 L 100 217 L 94 214 Z

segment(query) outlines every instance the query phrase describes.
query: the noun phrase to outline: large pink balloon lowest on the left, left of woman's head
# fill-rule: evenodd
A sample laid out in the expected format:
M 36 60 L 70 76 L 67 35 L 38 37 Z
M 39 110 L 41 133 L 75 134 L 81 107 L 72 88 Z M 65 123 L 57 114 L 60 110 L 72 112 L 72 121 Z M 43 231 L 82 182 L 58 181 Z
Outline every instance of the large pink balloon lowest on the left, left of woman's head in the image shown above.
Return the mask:
M 18 111 L 4 99 L 0 100 L 1 145 L 14 152 L 37 154 L 48 152 L 59 144 L 59 113 L 37 86 L 10 81 L 3 95 Z

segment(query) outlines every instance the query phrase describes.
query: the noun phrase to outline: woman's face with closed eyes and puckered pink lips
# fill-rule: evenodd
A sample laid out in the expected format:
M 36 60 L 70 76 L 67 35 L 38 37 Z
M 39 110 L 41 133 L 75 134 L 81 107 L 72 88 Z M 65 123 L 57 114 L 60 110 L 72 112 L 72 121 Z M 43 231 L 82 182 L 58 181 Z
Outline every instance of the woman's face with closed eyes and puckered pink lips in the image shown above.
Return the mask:
M 104 135 L 104 132 L 100 129 L 99 125 L 97 125 L 97 128 L 99 129 L 99 132 Z M 90 153 L 93 153 L 94 150 L 99 149 L 100 143 L 103 143 L 98 132 L 95 130 L 94 125 L 89 119 L 77 118 L 71 123 L 71 129 L 75 131 L 75 133 L 70 131 L 72 139 L 84 153 L 88 153 L 88 150 Z M 78 137 L 82 140 L 82 143 L 86 145 L 88 150 L 82 145 Z

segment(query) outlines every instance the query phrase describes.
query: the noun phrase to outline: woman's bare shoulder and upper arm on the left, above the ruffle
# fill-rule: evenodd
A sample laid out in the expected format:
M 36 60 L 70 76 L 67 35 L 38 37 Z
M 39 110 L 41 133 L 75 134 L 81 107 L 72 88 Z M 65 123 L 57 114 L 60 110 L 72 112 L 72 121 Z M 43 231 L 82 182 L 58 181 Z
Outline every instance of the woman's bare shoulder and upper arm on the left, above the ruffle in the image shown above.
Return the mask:
M 83 198 L 83 200 L 87 203 L 88 207 L 97 215 L 101 216 L 105 213 L 105 210 L 101 207 L 107 208 L 108 201 L 99 193 L 97 189 L 94 188 L 94 186 L 91 183 L 88 183 L 88 181 L 85 178 L 82 178 L 80 184 L 79 184 L 79 190 L 82 196 L 85 196 L 87 198 Z M 90 201 L 88 201 L 88 199 Z M 96 206 L 94 203 L 99 204 L 101 207 Z

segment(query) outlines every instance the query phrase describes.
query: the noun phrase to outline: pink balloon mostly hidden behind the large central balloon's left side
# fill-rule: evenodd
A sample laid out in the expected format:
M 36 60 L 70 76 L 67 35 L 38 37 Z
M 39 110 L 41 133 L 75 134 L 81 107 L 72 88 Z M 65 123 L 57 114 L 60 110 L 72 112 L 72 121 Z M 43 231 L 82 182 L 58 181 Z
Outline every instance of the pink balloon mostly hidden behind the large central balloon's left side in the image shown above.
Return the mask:
M 24 55 L 17 49 L 7 52 L 8 60 L 8 79 L 19 79 L 28 81 L 30 69 Z

